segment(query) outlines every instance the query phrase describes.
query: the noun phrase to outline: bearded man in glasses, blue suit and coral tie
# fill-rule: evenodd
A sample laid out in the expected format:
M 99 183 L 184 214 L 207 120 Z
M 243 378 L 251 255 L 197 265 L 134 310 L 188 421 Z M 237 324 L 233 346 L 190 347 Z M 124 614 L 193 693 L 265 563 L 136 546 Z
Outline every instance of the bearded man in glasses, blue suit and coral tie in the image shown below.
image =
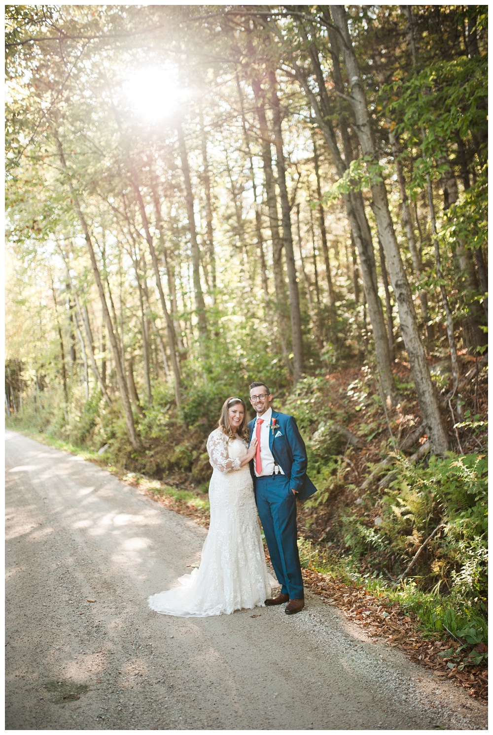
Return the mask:
M 305 500 L 316 487 L 306 475 L 307 456 L 296 420 L 271 408 L 272 393 L 264 383 L 250 385 L 257 417 L 249 422 L 250 441 L 257 438 L 250 462 L 255 500 L 269 554 L 281 584 L 280 595 L 266 605 L 285 606 L 285 614 L 303 609 L 305 597 L 297 545 L 296 496 Z

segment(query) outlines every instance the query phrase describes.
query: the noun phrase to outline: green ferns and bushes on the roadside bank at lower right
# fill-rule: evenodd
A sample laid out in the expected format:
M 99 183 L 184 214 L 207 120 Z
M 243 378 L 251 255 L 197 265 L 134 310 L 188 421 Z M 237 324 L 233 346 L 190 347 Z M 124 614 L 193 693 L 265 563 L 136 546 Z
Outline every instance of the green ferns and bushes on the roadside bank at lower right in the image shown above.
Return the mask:
M 395 459 L 397 477 L 383 496 L 366 495 L 355 506 L 358 511 L 341 510 L 341 561 L 352 578 L 416 614 L 425 630 L 456 637 L 460 646 L 451 660 L 479 662 L 485 651 L 470 649 L 487 639 L 486 456 L 432 456 L 428 466 L 412 465 L 400 455 Z M 379 515 L 370 525 L 373 503 Z M 402 573 L 439 523 L 444 528 L 428 542 L 411 577 L 389 588 L 389 570 L 394 578 Z

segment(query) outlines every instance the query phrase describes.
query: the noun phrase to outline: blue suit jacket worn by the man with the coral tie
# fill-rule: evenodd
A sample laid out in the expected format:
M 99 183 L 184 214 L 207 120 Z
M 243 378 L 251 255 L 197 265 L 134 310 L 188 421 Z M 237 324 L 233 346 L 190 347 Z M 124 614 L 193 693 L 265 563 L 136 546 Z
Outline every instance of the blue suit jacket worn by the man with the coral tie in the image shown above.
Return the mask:
M 281 414 L 274 410 L 272 411 L 271 426 L 272 419 L 275 419 L 275 427 L 272 431 L 269 426 L 269 449 L 285 476 L 289 478 L 289 487 L 297 491 L 299 498 L 306 500 L 310 495 L 313 495 L 313 492 L 316 492 L 316 487 L 306 474 L 308 459 L 305 442 L 299 434 L 296 419 L 294 416 Z M 255 419 L 248 423 L 250 441 L 252 441 L 254 426 Z M 255 486 L 253 460 L 250 462 L 250 472 Z

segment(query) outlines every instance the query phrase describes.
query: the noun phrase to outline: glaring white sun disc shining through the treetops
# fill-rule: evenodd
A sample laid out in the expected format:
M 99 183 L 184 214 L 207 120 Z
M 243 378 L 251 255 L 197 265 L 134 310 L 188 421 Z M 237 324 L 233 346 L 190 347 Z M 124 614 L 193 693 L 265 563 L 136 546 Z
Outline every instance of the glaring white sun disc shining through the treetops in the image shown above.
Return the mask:
M 124 91 L 133 110 L 150 122 L 169 117 L 185 99 L 177 70 L 170 66 L 138 69 L 127 80 Z

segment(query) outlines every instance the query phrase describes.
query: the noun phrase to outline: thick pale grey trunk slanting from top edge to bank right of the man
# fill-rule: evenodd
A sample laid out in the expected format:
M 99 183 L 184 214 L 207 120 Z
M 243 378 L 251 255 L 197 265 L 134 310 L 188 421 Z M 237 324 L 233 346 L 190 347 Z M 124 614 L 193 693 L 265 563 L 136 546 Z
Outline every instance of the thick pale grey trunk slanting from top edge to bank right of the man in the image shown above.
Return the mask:
M 330 6 L 330 12 L 334 25 L 343 40 L 341 47 L 347 74 L 350 79 L 350 102 L 355 112 L 356 130 L 361 143 L 363 156 L 369 156 L 372 160 L 377 160 L 369 112 L 366 105 L 366 93 L 361 80 L 358 62 L 352 49 L 350 34 L 347 29 L 346 11 L 343 5 L 333 5 Z M 411 363 L 411 373 L 416 385 L 419 406 L 430 433 L 430 442 L 433 451 L 441 454 L 449 448 L 447 429 L 441 415 L 436 392 L 433 389 L 430 370 L 428 369 L 425 358 L 425 351 L 419 339 L 411 288 L 405 275 L 399 246 L 395 237 L 394 224 L 391 220 L 389 203 L 387 201 L 386 187 L 381 179 L 379 180 L 379 177 L 375 176 L 371 182 L 371 189 L 373 197 L 372 209 L 375 212 L 378 233 L 382 240 L 387 265 L 389 266 L 389 275 L 399 308 L 400 331 L 406 351 L 408 352 L 409 362 Z

